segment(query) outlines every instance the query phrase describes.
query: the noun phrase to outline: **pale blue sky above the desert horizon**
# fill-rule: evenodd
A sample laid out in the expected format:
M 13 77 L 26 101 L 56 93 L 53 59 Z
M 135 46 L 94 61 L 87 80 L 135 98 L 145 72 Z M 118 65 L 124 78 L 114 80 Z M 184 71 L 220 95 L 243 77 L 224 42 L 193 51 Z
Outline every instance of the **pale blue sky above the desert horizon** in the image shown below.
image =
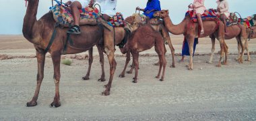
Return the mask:
M 64 2 L 67 0 L 63 0 Z M 136 7 L 144 8 L 148 0 L 118 0 L 117 11 L 123 13 L 124 17 L 135 13 Z M 256 0 L 228 0 L 230 12 L 238 12 L 242 17 L 256 13 Z M 4 4 L 5 3 L 5 4 Z M 193 0 L 160 0 L 162 9 L 168 9 L 170 18 L 174 24 L 180 23 L 187 11 L 187 6 Z M 11 6 L 10 6 L 11 5 Z M 205 0 L 205 7 L 216 8 L 216 0 Z M 10 7 L 12 7 L 10 9 Z M 51 0 L 40 0 L 37 19 L 49 11 Z M 24 0 L 1 0 L 0 4 L 0 35 L 22 34 L 22 24 L 26 13 Z

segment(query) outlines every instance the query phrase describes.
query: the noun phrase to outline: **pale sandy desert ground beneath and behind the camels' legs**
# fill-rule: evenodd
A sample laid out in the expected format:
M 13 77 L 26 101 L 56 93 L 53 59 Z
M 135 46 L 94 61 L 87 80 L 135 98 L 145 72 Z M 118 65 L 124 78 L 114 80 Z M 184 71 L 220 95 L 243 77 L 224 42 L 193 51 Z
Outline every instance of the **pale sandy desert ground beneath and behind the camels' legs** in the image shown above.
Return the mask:
M 0 38 L 0 54 L 34 54 L 33 45 L 22 36 Z M 174 36 L 172 41 L 180 53 L 182 37 Z M 227 43 L 230 53 L 236 53 L 236 41 Z M 255 43 L 250 41 L 251 51 L 255 51 Z M 197 52 L 210 53 L 210 47 L 210 39 L 204 38 Z M 216 52 L 218 47 L 216 43 Z M 144 52 L 152 56 L 139 57 L 137 84 L 131 83 L 134 74 L 118 77 L 125 57 L 115 57 L 118 65 L 110 96 L 100 95 L 106 82 L 97 82 L 97 51 L 88 81 L 81 80 L 88 60 L 71 59 L 71 66 L 61 65 L 60 108 L 49 108 L 55 94 L 51 57 L 46 58 L 38 106 L 32 108 L 27 108 L 26 102 L 36 88 L 36 58 L 0 60 L 0 120 L 256 120 L 256 55 L 244 64 L 234 61 L 236 55 L 229 55 L 228 66 L 222 68 L 215 67 L 219 55 L 214 56 L 214 64 L 205 63 L 209 55 L 196 55 L 193 71 L 185 68 L 186 60 L 177 63 L 177 68 L 166 68 L 165 81 L 159 82 L 154 78 L 158 67 L 153 64 L 158 57 L 153 50 Z M 170 66 L 170 55 L 166 59 Z M 106 59 L 105 64 L 108 80 Z

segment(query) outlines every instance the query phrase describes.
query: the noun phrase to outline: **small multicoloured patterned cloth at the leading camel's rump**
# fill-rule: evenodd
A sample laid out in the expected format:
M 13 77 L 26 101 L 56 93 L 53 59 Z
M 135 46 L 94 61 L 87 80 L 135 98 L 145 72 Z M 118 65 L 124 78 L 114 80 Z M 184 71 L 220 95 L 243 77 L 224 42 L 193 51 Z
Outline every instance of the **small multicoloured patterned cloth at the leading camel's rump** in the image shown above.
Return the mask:
M 117 12 L 115 16 L 109 19 L 109 22 L 113 27 L 124 27 L 125 19 L 123 19 L 122 13 Z

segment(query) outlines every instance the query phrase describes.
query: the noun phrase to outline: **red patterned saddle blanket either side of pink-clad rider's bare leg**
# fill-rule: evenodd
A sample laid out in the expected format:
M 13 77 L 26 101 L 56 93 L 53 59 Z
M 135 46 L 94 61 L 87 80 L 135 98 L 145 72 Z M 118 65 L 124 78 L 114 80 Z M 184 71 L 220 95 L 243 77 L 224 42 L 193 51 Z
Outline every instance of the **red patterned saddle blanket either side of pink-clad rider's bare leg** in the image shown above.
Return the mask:
M 195 12 L 193 10 L 191 11 L 187 11 L 187 13 L 185 14 L 185 16 L 189 16 L 190 19 L 197 23 L 197 15 L 195 15 Z M 204 11 L 204 13 L 201 15 L 201 18 L 203 21 L 216 21 L 218 20 L 218 17 L 214 11 L 214 9 L 207 9 Z

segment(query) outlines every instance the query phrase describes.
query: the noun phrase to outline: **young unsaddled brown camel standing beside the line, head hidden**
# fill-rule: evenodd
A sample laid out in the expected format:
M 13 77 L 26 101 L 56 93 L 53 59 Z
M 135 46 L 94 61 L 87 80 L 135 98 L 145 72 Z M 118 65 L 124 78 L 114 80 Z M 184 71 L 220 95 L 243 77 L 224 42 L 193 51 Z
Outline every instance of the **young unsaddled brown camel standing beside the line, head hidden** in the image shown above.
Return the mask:
M 151 25 L 140 26 L 132 33 L 131 37 L 129 37 L 125 47 L 121 48 L 121 52 L 127 53 L 127 57 L 129 57 L 130 52 L 133 55 L 133 64 L 135 67 L 135 77 L 133 78 L 133 83 L 137 83 L 139 52 L 150 49 L 153 46 L 155 46 L 156 53 L 158 53 L 160 60 L 158 76 L 156 76 L 156 78 L 160 78 L 160 73 L 163 68 L 160 81 L 164 81 L 166 59 L 164 57 L 164 40 L 159 31 L 155 31 Z M 127 66 L 128 63 L 129 62 L 126 62 L 125 66 Z

